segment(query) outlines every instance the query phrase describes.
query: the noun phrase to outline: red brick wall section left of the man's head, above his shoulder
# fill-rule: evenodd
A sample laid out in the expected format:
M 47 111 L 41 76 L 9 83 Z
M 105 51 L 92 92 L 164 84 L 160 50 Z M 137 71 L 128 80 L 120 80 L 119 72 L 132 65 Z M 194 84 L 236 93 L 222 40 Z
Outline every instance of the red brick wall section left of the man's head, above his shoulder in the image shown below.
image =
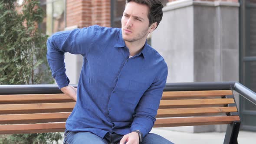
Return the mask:
M 110 0 L 66 0 L 66 26 L 111 26 Z

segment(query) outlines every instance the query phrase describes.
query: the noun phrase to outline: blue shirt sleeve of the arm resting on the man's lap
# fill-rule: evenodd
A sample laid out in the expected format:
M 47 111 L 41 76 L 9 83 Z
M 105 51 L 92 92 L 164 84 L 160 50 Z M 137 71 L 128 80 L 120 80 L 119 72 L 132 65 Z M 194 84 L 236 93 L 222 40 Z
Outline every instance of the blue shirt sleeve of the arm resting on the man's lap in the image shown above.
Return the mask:
M 131 131 L 139 130 L 145 137 L 154 126 L 156 115 L 162 98 L 163 90 L 167 79 L 167 65 L 164 62 L 164 68 L 160 69 L 159 75 L 154 80 L 153 84 L 148 88 L 142 96 L 136 110 Z

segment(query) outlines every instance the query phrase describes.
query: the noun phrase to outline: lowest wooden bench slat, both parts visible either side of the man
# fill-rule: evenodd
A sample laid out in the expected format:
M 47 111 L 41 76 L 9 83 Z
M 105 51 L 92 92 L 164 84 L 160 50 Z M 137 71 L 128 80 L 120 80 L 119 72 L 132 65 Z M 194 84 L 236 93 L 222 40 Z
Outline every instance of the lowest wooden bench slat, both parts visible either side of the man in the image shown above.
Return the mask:
M 164 118 L 157 119 L 154 127 L 175 127 L 206 124 L 230 124 L 232 121 L 240 121 L 239 116 L 194 117 L 194 118 Z M 65 122 L 45 124 L 12 124 L 0 125 L 0 134 L 26 134 L 53 131 L 64 131 Z

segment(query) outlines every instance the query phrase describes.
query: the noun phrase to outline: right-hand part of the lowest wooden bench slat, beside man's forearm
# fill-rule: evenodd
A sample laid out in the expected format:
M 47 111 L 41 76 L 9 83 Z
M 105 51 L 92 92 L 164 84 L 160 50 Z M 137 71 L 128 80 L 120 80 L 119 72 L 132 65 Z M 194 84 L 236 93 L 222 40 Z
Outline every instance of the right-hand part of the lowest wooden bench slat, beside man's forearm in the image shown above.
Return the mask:
M 233 121 L 240 121 L 236 116 L 215 116 L 215 117 L 192 117 L 192 118 L 161 118 L 157 119 L 154 128 L 178 127 L 190 125 L 230 124 Z

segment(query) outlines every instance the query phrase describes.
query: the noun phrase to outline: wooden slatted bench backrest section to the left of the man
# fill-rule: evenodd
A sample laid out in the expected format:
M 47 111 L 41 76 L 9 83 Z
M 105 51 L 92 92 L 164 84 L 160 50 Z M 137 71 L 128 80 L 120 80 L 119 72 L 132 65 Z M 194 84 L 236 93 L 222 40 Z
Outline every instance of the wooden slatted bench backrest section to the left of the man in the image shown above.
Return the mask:
M 65 131 L 74 106 L 65 94 L 0 95 L 0 134 Z

